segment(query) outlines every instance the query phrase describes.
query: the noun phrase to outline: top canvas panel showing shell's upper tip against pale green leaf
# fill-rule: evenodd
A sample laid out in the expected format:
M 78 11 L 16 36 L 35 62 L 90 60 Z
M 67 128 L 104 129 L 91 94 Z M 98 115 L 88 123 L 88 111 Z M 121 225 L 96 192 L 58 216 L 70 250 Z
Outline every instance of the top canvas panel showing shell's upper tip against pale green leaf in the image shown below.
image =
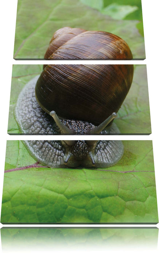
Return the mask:
M 143 60 L 141 0 L 18 0 L 13 58 Z

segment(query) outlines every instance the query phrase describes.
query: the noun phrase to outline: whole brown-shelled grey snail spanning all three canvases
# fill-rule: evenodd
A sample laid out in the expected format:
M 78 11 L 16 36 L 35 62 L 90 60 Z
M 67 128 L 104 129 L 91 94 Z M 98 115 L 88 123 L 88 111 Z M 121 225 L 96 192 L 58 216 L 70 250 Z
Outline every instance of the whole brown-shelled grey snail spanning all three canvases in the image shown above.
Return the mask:
M 125 41 L 104 31 L 55 32 L 45 59 L 132 59 Z M 15 118 L 25 134 L 120 133 L 113 123 L 133 78 L 133 65 L 44 65 L 19 94 Z M 35 86 L 36 85 L 36 86 Z M 120 141 L 24 141 L 50 167 L 107 167 L 124 152 Z M 50 161 L 51 159 L 51 161 Z

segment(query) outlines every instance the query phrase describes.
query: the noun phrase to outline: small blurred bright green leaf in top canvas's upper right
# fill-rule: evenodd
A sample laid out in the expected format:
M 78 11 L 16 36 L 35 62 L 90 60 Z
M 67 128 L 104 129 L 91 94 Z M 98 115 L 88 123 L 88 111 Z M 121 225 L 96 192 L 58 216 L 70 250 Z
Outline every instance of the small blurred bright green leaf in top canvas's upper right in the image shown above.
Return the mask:
M 137 6 L 131 5 L 119 5 L 119 4 L 110 4 L 108 7 L 102 9 L 102 14 L 111 16 L 113 19 L 124 19 L 128 14 L 136 11 Z

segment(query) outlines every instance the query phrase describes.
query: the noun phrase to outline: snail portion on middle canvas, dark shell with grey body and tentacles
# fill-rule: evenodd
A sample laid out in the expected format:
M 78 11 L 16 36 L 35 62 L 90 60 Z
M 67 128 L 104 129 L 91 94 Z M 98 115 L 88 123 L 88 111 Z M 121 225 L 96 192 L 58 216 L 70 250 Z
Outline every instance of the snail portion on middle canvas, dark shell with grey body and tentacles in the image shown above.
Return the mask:
M 113 123 L 132 83 L 133 65 L 47 65 L 18 96 L 24 134 L 118 134 Z

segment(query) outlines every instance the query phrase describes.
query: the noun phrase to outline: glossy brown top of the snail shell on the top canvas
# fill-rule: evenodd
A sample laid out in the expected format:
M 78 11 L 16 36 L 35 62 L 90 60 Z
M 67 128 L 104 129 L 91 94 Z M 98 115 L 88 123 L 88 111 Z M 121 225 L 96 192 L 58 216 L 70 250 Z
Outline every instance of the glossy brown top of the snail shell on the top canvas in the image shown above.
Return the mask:
M 127 43 L 105 31 L 63 27 L 51 38 L 44 59 L 132 59 Z

